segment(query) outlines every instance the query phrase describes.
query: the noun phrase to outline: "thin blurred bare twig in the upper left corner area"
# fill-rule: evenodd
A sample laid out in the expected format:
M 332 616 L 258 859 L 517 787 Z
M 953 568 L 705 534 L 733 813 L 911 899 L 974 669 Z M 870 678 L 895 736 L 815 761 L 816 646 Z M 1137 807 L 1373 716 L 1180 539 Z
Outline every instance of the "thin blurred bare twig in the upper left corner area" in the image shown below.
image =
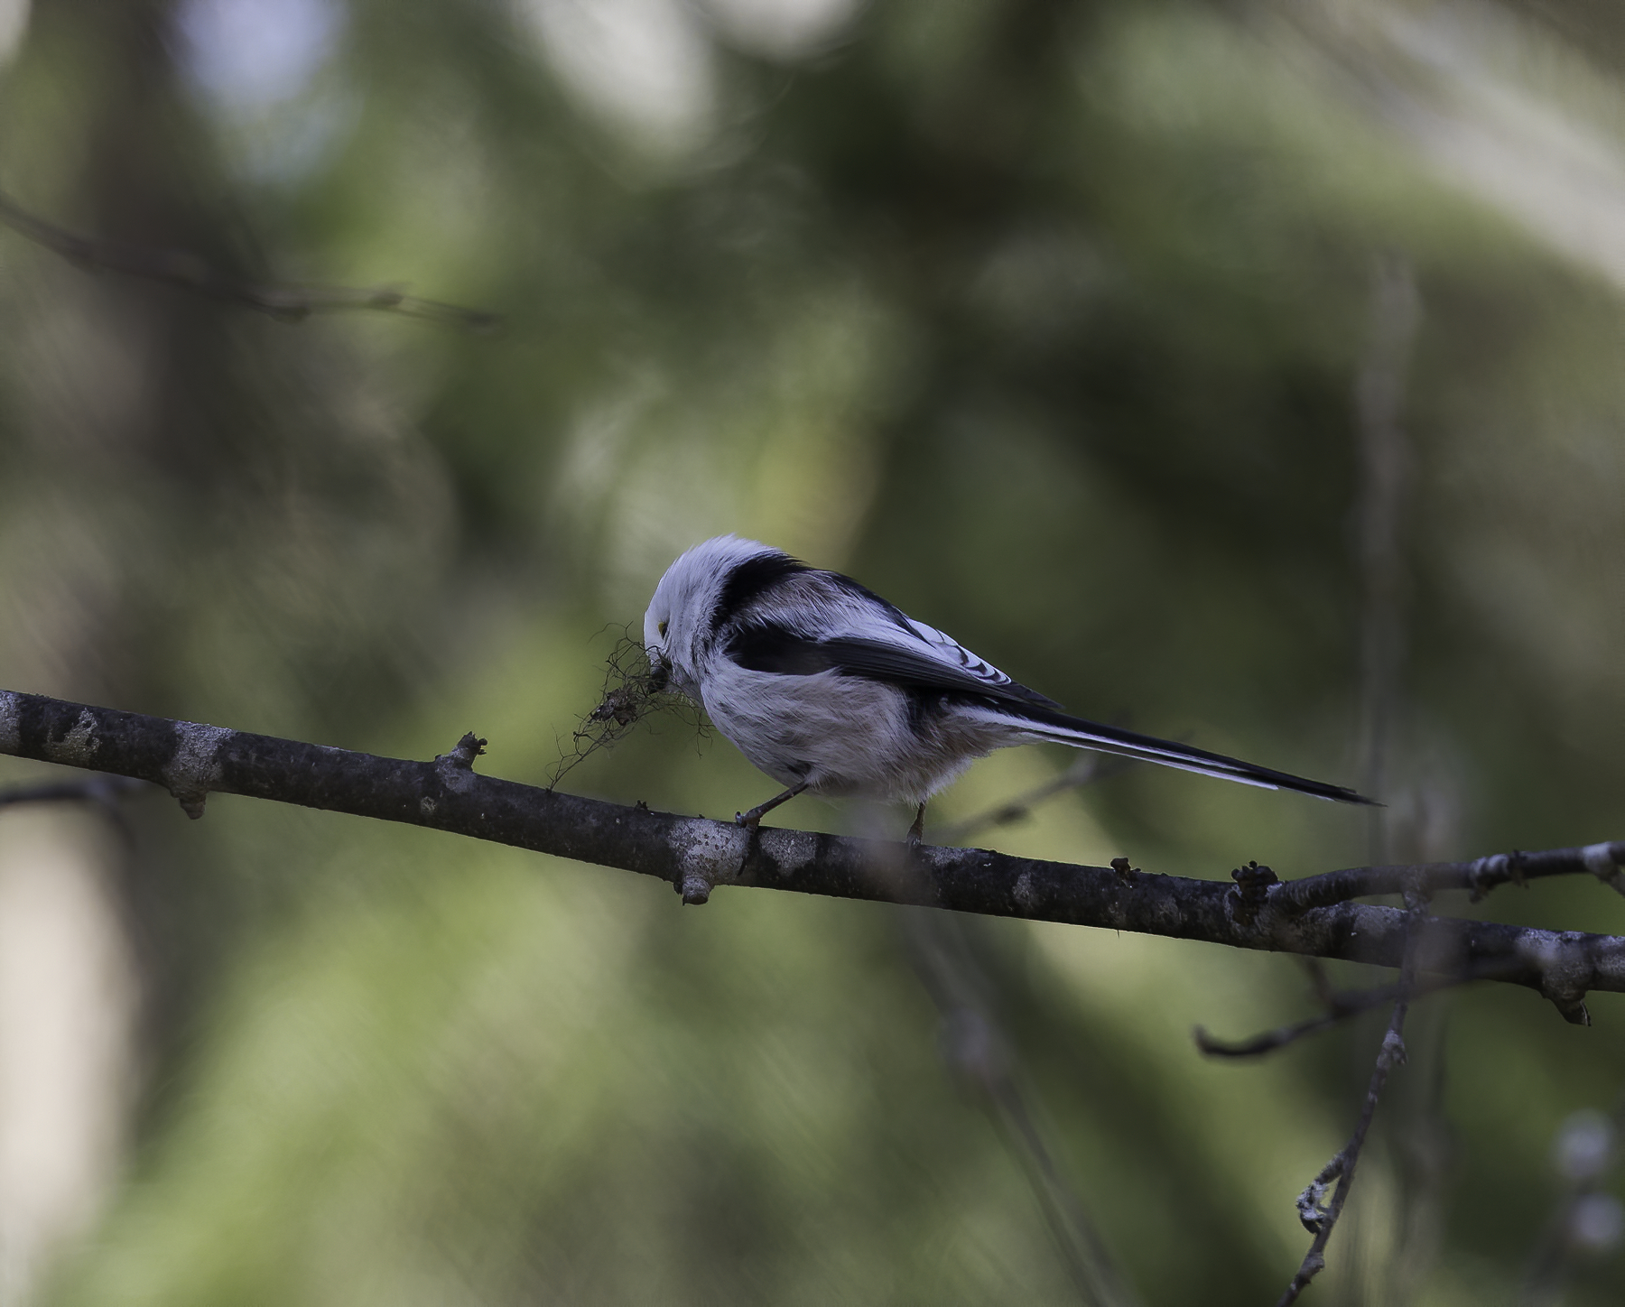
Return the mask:
M 240 304 L 275 317 L 278 322 L 304 322 L 314 314 L 353 310 L 447 322 L 476 332 L 489 332 L 502 322 L 499 314 L 484 309 L 465 309 L 457 304 L 442 304 L 437 299 L 421 299 L 393 286 L 299 286 L 242 281 L 228 276 L 200 255 L 187 250 L 150 249 L 124 241 L 80 236 L 37 218 L 3 193 L 0 193 L 0 224 L 81 268 L 159 281 L 208 299 Z

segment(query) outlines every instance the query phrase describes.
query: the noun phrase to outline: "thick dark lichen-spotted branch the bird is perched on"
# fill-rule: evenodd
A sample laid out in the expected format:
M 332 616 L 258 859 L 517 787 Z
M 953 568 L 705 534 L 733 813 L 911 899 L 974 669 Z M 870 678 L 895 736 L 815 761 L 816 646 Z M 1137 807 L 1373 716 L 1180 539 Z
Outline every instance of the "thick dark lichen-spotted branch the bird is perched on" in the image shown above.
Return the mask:
M 193 816 L 202 816 L 210 793 L 236 793 L 403 821 L 658 876 L 686 902 L 705 902 L 718 884 L 743 884 L 1386 967 L 1398 967 L 1406 948 L 1407 914 L 1399 909 L 1337 902 L 1289 912 L 1272 896 L 1290 884 L 1248 881 L 1251 889 L 1243 889 L 1150 875 L 1126 860 L 1118 868 L 1076 866 L 980 849 L 926 847 L 918 858 L 921 875 L 897 881 L 876 875 L 882 847 L 869 840 L 806 831 L 749 832 L 726 821 L 496 780 L 473 771 L 476 749 L 478 741 L 468 736 L 450 754 L 411 762 L 0 691 L 0 754 L 151 780 Z M 1419 935 L 1425 970 L 1471 970 L 1528 985 L 1570 1019 L 1584 1019 L 1588 990 L 1625 992 L 1622 936 L 1451 917 L 1428 917 Z

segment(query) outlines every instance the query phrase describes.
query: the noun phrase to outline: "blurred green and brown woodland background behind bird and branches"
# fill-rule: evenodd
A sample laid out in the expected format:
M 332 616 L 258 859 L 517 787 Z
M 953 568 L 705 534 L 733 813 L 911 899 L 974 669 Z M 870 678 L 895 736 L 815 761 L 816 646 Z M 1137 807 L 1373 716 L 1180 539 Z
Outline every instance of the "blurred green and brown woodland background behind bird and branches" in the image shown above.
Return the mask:
M 5 688 L 473 728 L 546 784 L 733 530 L 1389 805 L 1126 769 L 993 847 L 1222 879 L 1625 834 L 1614 5 L 0 0 L 0 52 L 31 213 L 502 315 L 283 322 L 0 229 Z M 978 764 L 936 834 L 1072 761 Z M 562 784 L 774 788 L 681 715 Z M 1625 931 L 1596 883 L 1445 907 Z M 1313 1010 L 1294 961 L 921 930 L 229 797 L 6 810 L 0 1300 L 1076 1302 L 1095 1242 L 1116 1302 L 1274 1300 L 1380 1026 L 1211 1063 L 1193 1024 Z M 1591 1013 L 1419 1010 L 1313 1300 L 1625 1300 L 1617 1203 L 1565 1218 L 1625 1089 Z

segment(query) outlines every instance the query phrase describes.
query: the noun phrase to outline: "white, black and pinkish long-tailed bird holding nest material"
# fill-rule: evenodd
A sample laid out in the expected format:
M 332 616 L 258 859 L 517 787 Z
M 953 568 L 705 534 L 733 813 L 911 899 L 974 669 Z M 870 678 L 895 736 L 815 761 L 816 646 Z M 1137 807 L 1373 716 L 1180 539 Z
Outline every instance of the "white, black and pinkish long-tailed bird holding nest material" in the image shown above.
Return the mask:
M 751 829 L 811 792 L 910 803 L 907 839 L 918 844 L 926 801 L 970 762 L 1040 741 L 1337 803 L 1375 801 L 1072 717 L 852 577 L 734 535 L 705 540 L 666 569 L 644 614 L 644 649 L 658 688 L 676 686 L 785 787 L 734 813 Z

